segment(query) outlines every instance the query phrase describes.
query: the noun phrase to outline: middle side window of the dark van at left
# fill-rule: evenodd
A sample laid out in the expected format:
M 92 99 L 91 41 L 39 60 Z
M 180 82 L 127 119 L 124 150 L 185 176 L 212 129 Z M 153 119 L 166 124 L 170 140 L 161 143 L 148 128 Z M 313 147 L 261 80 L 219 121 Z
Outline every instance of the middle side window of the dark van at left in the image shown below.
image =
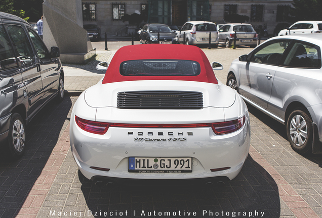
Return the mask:
M 6 28 L 13 42 L 19 67 L 33 64 L 34 54 L 24 29 L 18 25 L 6 25 Z

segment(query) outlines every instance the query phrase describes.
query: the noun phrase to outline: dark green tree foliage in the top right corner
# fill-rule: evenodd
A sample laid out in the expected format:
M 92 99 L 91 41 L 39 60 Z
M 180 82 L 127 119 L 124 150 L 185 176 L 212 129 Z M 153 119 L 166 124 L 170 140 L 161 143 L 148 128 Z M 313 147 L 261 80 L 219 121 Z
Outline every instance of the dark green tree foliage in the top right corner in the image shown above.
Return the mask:
M 291 15 L 294 21 L 322 20 L 322 0 L 293 0 Z

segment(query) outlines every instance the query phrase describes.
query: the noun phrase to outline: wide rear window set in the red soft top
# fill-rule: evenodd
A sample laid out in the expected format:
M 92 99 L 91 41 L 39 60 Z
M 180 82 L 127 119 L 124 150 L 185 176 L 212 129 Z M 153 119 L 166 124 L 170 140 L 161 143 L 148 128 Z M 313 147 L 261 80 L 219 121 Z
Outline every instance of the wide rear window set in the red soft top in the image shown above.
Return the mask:
M 123 76 L 196 76 L 200 65 L 187 60 L 132 60 L 120 64 Z

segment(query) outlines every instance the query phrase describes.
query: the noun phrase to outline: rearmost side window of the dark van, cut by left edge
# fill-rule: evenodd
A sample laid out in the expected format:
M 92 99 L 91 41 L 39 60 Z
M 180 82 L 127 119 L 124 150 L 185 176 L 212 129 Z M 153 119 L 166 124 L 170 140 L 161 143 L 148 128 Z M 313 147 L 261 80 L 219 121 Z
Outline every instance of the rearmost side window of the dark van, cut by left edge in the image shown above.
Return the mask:
M 0 71 L 18 67 L 16 56 L 5 27 L 0 25 Z

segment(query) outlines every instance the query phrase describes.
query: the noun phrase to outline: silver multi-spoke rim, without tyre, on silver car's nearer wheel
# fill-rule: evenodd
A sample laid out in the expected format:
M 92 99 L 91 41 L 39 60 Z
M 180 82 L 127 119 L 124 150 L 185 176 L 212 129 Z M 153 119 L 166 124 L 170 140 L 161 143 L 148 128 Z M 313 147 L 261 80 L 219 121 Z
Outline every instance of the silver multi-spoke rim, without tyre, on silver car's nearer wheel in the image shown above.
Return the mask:
M 296 146 L 302 146 L 307 138 L 307 127 L 304 118 L 296 115 L 291 120 L 290 136 Z

